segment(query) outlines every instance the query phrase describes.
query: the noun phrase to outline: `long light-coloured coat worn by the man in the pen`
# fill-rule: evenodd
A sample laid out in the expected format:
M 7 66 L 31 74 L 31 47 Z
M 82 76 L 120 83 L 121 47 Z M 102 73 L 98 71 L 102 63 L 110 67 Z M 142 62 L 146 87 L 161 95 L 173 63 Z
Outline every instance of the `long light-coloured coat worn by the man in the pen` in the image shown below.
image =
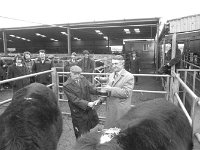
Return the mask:
M 114 79 L 114 73 L 110 74 L 108 85 L 113 88 L 110 97 L 107 99 L 104 125 L 106 129 L 113 127 L 114 123 L 131 108 L 134 77 L 130 72 L 123 69 L 116 79 Z

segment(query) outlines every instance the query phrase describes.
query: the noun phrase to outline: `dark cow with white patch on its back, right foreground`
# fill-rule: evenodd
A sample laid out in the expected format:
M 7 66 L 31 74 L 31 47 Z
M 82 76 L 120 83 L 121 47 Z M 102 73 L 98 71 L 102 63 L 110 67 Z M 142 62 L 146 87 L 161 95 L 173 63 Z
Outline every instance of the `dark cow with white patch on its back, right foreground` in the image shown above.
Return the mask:
M 192 128 L 179 107 L 149 100 L 132 107 L 112 129 L 83 135 L 74 150 L 192 150 Z

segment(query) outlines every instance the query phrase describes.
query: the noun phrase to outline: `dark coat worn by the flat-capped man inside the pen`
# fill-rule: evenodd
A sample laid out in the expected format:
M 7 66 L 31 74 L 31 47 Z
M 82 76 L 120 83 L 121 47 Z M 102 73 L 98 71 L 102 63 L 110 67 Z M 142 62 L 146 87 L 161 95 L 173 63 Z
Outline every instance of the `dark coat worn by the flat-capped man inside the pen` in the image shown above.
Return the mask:
M 71 110 L 72 121 L 78 123 L 87 123 L 89 128 L 93 128 L 99 122 L 96 110 L 88 107 L 88 102 L 91 102 L 90 94 L 98 94 L 98 91 L 93 88 L 91 83 L 81 76 L 78 85 L 71 77 L 63 84 L 63 90 L 67 96 L 69 107 Z

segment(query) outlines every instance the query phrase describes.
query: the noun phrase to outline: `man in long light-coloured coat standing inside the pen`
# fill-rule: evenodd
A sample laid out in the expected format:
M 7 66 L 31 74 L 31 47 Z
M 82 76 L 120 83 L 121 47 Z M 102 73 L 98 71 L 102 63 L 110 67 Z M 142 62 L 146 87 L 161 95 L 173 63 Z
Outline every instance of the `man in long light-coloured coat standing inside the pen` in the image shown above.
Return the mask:
M 112 58 L 113 73 L 109 75 L 107 85 L 103 88 L 109 93 L 106 106 L 106 121 L 104 128 L 112 127 L 131 108 L 133 75 L 124 69 L 124 59 L 121 55 Z

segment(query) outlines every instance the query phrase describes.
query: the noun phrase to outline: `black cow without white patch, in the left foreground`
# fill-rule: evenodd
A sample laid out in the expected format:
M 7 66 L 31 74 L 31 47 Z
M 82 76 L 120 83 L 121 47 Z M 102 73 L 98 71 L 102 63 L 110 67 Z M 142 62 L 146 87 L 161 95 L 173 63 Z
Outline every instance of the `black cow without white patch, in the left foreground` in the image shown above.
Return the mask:
M 17 91 L 0 116 L 0 150 L 56 150 L 61 133 L 57 98 L 39 83 Z

